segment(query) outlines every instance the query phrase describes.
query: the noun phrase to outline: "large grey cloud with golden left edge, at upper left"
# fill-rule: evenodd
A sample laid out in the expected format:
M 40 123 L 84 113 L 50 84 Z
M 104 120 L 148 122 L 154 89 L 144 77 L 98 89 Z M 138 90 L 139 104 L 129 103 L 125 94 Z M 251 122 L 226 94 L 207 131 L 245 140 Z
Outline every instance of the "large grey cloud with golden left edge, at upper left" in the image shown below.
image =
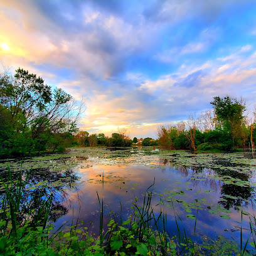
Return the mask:
M 97 6 L 81 1 L 31 1 L 27 8 L 28 4 L 9 1 L 0 17 L 4 28 L 0 41 L 16 42 L 22 54 L 13 50 L 10 55 L 17 62 L 33 59 L 56 67 L 76 67 L 92 78 L 112 77 L 124 71 L 130 55 L 151 45 L 157 28 L 147 30 L 149 25 L 143 20 L 134 26 Z M 9 13 L 18 18 L 10 22 Z M 14 30 L 17 33 L 10 33 Z

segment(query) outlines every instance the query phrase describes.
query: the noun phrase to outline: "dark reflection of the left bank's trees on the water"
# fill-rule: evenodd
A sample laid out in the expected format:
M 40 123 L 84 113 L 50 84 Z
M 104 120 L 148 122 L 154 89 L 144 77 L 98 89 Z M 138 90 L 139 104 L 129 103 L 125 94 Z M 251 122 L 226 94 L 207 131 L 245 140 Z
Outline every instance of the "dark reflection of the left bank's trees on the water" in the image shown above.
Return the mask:
M 11 179 L 16 181 L 20 175 L 23 182 L 26 182 L 26 186 L 21 198 L 19 220 L 23 220 L 31 209 L 39 210 L 43 200 L 50 195 L 53 197 L 49 219 L 56 221 L 68 213 L 69 206 L 65 205 L 65 201 L 69 195 L 65 189 L 72 188 L 78 180 L 77 174 L 72 169 L 52 171 L 50 168 L 35 168 L 29 171 L 12 171 Z M 8 171 L 3 171 L 1 177 L 5 183 L 8 183 Z M 2 188 L 0 191 L 1 199 L 5 193 L 6 191 Z

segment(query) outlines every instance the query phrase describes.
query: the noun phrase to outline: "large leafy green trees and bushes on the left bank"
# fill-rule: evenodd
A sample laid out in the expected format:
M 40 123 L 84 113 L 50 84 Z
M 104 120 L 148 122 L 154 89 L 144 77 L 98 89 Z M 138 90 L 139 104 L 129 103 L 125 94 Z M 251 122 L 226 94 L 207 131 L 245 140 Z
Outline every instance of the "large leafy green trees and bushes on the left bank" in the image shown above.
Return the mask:
M 83 102 L 35 74 L 21 68 L 14 76 L 0 73 L 0 157 L 63 152 L 82 110 Z

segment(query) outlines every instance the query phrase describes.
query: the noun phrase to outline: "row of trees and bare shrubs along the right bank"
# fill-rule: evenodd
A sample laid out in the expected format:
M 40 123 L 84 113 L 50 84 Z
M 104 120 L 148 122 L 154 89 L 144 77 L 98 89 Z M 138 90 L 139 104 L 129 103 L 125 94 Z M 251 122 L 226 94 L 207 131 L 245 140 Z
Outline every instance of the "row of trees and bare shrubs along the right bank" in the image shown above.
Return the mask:
M 253 148 L 256 142 L 256 109 L 249 119 L 245 116 L 243 100 L 229 96 L 214 97 L 211 104 L 213 109 L 200 117 L 190 115 L 186 122 L 159 127 L 159 146 L 193 151 Z

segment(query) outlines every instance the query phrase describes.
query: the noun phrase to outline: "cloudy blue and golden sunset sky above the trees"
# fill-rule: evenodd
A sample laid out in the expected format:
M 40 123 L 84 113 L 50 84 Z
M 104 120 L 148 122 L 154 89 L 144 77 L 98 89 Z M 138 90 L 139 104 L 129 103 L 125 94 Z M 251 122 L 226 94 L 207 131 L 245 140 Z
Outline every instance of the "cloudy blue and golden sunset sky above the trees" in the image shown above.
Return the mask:
M 256 103 L 254 0 L 0 0 L 0 62 L 86 109 L 81 131 L 131 138 L 212 109 Z

